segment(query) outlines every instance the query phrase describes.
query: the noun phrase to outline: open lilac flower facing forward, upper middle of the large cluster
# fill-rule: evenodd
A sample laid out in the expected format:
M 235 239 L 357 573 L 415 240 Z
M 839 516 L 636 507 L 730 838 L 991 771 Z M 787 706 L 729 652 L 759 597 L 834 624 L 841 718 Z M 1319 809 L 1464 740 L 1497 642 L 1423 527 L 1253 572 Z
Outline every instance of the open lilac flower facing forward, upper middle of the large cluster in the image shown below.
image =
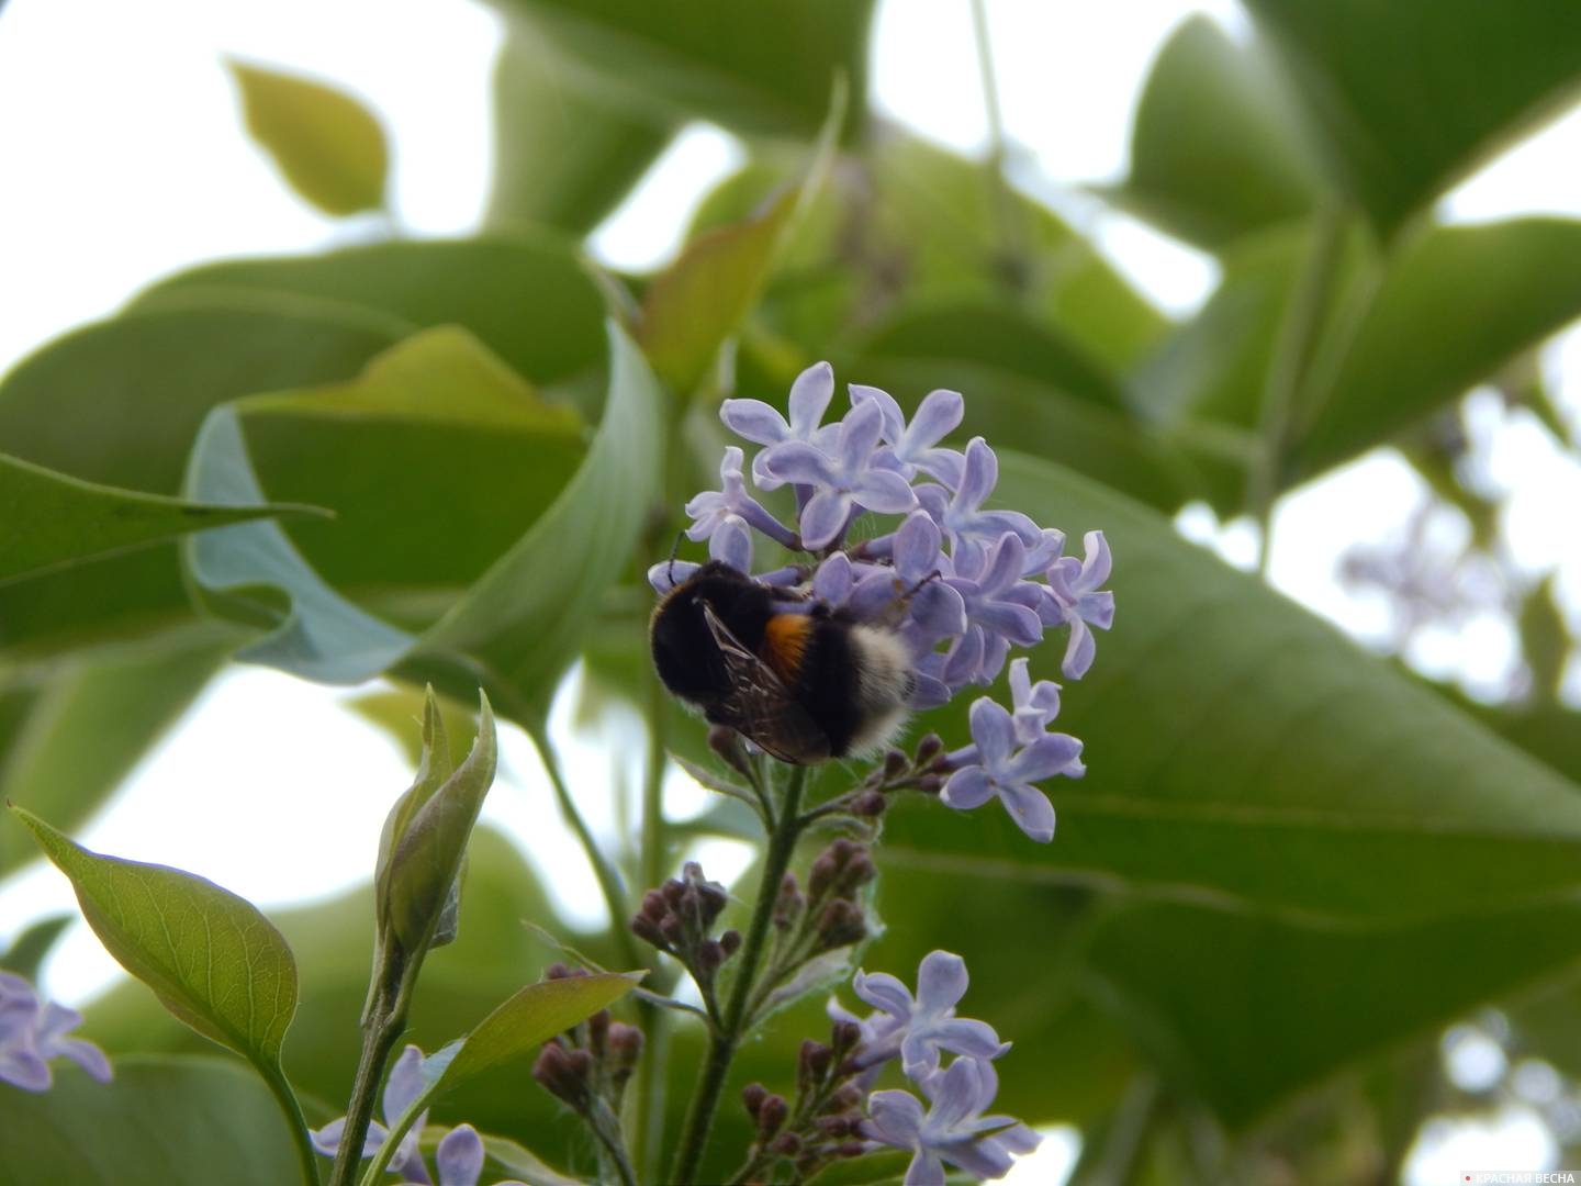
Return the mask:
M 784 441 L 762 452 L 762 468 L 778 481 L 813 490 L 802 508 L 802 546 L 821 552 L 836 542 L 846 523 L 860 511 L 901 514 L 917 504 L 911 484 L 893 470 L 876 465 L 884 413 L 873 403 L 851 410 L 824 440 Z

